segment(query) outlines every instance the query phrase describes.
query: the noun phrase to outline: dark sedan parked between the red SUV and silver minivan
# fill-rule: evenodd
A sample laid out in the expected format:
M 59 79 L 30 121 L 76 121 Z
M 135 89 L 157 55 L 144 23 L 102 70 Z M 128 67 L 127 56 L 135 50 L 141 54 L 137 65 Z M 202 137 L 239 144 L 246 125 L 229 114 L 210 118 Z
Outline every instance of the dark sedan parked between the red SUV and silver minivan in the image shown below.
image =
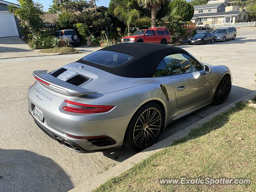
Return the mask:
M 204 44 L 214 43 L 215 36 L 210 32 L 197 33 L 192 38 L 188 39 L 188 44 Z

